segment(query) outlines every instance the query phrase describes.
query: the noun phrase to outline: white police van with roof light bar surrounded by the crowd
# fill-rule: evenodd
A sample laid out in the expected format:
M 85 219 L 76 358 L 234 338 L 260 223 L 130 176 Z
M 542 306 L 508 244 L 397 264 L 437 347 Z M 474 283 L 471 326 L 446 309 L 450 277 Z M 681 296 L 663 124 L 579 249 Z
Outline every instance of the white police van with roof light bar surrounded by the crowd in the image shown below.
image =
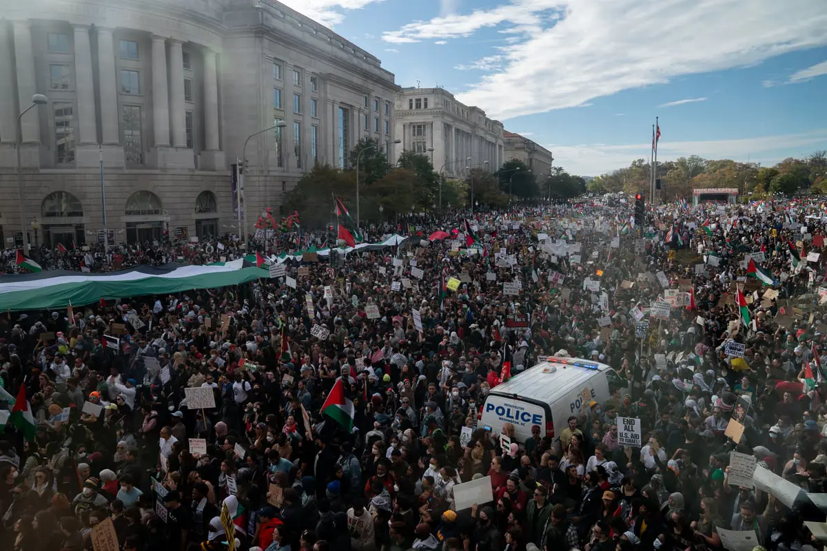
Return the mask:
M 533 425 L 540 435 L 555 439 L 568 426 L 568 418 L 580 417 L 589 402 L 609 399 L 609 385 L 622 386 L 619 375 L 605 363 L 588 359 L 545 356 L 540 363 L 492 388 L 485 399 L 480 426 L 499 435 L 505 423 L 514 425 L 517 439 L 531 437 Z

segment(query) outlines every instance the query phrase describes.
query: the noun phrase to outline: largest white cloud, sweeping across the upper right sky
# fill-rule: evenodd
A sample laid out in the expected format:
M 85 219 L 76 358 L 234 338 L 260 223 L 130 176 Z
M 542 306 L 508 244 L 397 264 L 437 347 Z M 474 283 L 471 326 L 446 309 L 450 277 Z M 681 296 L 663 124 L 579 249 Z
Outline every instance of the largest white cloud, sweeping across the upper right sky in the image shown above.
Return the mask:
M 414 21 L 383 39 L 447 40 L 482 29 L 541 28 L 504 45 L 504 67 L 457 94 L 502 120 L 827 45 L 825 26 L 827 8 L 820 0 L 753 0 L 748 10 L 740 0 L 509 0 Z

